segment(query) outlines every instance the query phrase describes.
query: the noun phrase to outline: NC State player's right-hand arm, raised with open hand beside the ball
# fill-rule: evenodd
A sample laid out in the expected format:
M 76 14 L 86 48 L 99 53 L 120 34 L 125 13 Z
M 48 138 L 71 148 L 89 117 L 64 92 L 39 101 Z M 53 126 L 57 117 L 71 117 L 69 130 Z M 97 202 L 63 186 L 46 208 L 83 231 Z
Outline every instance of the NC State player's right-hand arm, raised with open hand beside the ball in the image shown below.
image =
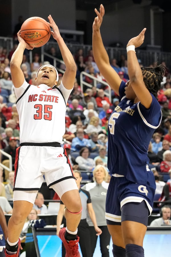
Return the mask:
M 76 71 L 77 71 L 76 63 L 74 61 L 74 58 L 70 50 L 68 49 L 63 38 L 61 37 L 58 26 L 52 19 L 52 16 L 49 15 L 48 19 L 49 19 L 49 25 L 53 29 L 53 31 L 51 31 L 51 34 L 58 43 L 58 46 L 62 55 L 62 59 L 64 60 L 64 63 L 66 66 L 66 71 L 62 77 L 62 83 L 64 87 L 66 87 L 66 89 L 72 89 L 76 78 Z

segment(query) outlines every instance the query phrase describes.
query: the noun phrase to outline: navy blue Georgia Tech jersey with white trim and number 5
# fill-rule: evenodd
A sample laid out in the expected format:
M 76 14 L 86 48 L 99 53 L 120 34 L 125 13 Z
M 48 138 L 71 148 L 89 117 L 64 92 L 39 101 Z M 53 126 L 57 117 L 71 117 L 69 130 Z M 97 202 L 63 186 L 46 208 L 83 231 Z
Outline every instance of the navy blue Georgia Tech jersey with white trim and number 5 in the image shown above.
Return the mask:
M 134 104 L 125 96 L 125 82 L 119 88 L 119 105 L 108 122 L 108 169 L 135 183 L 147 181 L 148 145 L 154 130 L 162 119 L 160 105 L 152 96 L 146 109 L 140 102 Z

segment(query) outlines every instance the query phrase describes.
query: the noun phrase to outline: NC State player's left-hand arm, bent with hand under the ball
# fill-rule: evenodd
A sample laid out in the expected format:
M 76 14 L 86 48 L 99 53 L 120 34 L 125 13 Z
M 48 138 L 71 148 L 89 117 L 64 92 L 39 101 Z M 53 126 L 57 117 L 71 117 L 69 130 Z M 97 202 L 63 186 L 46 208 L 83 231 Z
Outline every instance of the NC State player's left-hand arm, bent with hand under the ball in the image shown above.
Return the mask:
M 25 77 L 23 71 L 21 70 L 20 66 L 23 60 L 23 53 L 25 49 L 32 50 L 33 47 L 30 47 L 24 39 L 20 37 L 20 31 L 17 33 L 18 37 L 18 47 L 13 53 L 10 61 L 10 69 L 11 69 L 11 79 L 13 81 L 14 87 L 21 87 L 23 84 Z

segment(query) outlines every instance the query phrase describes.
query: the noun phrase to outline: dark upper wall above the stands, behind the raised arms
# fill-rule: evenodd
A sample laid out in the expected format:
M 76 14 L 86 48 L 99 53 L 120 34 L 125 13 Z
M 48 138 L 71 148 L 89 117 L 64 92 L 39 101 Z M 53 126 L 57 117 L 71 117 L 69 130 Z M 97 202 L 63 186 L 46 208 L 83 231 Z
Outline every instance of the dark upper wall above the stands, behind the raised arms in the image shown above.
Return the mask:
M 105 6 L 105 1 L 103 2 Z M 121 42 L 125 47 L 131 37 L 146 27 L 144 47 L 154 43 L 154 45 L 160 45 L 163 51 L 171 51 L 171 11 L 167 8 L 162 10 L 149 3 L 151 3 L 150 0 L 142 0 L 141 4 L 135 4 L 132 0 L 121 0 L 105 6 L 105 16 L 101 26 L 105 46 Z M 76 0 L 28 0 L 27 2 L 0 0 L 0 6 L 0 19 L 3 24 L 0 36 L 12 35 L 19 15 L 23 15 L 24 19 L 40 16 L 48 20 L 47 16 L 52 14 L 60 29 L 83 29 L 86 33 L 85 43 L 89 45 L 92 43 L 94 8 L 84 10 L 83 6 L 82 10 L 76 10 Z M 153 10 L 153 13 L 150 10 Z

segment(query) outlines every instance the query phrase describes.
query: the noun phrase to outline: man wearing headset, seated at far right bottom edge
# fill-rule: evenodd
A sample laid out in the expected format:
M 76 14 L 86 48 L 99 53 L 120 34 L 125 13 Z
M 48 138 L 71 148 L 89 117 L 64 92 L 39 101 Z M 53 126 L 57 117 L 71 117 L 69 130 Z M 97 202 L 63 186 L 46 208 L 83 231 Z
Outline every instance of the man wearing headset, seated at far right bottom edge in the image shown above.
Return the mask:
M 153 220 L 150 223 L 150 226 L 154 227 L 154 226 L 167 226 L 167 225 L 171 225 L 171 220 L 170 220 L 171 208 L 168 205 L 164 205 L 161 208 L 161 213 L 162 213 L 162 217 Z

